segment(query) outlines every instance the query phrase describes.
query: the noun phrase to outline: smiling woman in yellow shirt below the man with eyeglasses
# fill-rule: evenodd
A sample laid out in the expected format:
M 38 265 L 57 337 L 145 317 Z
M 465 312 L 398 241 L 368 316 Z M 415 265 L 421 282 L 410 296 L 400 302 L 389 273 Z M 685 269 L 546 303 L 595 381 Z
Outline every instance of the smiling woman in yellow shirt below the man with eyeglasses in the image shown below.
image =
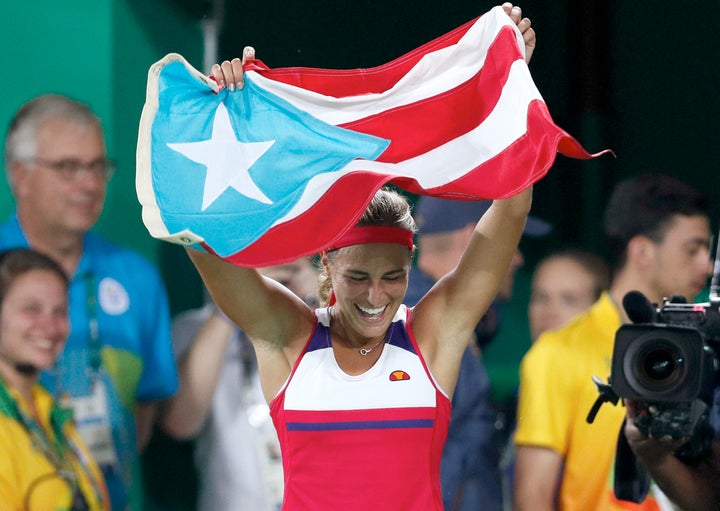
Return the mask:
M 69 332 L 68 279 L 31 249 L 0 252 L 0 509 L 108 511 L 72 412 L 38 383 Z

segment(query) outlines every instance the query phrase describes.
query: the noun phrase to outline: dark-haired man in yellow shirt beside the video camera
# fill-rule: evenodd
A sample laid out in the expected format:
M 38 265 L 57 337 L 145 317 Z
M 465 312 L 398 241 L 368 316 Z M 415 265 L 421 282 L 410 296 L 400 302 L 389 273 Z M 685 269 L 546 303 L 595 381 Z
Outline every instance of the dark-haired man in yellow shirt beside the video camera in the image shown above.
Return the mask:
M 625 411 L 604 407 L 586 422 L 598 397 L 592 377 L 610 375 L 628 291 L 659 303 L 672 294 L 692 298 L 707 283 L 706 199 L 666 175 L 627 179 L 610 197 L 605 237 L 614 268 L 609 291 L 565 327 L 542 334 L 521 363 L 516 511 L 641 509 L 615 501 L 608 485 Z

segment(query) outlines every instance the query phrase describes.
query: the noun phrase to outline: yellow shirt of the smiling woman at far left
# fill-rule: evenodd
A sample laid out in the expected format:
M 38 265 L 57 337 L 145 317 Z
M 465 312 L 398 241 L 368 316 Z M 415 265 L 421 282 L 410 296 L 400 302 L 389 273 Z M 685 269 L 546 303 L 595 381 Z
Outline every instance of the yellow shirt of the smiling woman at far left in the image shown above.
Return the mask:
M 5 396 L 11 397 L 20 405 L 20 410 L 31 417 L 27 405 L 19 395 L 0 380 Z M 33 395 L 40 417 L 41 427 L 54 442 L 55 435 L 51 425 L 51 412 L 54 401 L 42 387 L 36 385 Z M 1 400 L 0 400 L 1 401 Z M 12 403 L 11 403 L 12 404 Z M 71 487 L 58 475 L 48 457 L 22 422 L 11 413 L 12 410 L 0 402 L 0 509 L 3 511 L 67 511 L 71 509 Z M 61 431 L 73 449 L 65 453 L 69 468 L 79 479 L 80 490 L 91 511 L 110 509 L 107 490 L 102 475 L 95 462 L 90 458 L 87 448 L 75 432 L 70 416 L 61 422 Z M 72 451 L 77 451 L 77 455 Z M 85 467 L 81 465 L 86 464 Z

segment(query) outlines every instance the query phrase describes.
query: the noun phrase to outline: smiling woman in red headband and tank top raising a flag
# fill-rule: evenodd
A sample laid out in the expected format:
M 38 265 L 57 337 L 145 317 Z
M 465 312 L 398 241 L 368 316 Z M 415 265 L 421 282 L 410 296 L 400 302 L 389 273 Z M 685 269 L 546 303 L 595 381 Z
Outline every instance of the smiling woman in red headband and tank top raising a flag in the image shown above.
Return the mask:
M 526 59 L 530 21 L 520 28 Z M 228 90 L 242 65 L 213 67 Z M 520 240 L 532 192 L 496 200 L 465 254 L 413 308 L 403 305 L 415 224 L 406 199 L 379 190 L 355 227 L 321 254 L 328 296 L 311 310 L 257 270 L 188 250 L 220 308 L 252 339 L 282 447 L 283 509 L 441 510 L 450 398 L 475 325 Z

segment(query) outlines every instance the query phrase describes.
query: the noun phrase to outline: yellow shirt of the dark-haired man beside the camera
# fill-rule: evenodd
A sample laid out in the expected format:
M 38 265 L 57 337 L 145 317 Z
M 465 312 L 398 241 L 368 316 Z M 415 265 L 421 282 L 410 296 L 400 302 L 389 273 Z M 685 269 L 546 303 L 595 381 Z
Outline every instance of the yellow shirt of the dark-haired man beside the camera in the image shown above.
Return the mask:
M 520 366 L 515 444 L 547 447 L 564 459 L 560 511 L 612 509 L 608 486 L 625 408 L 605 404 L 586 418 L 598 397 L 592 381 L 610 376 L 620 314 L 605 293 L 585 314 L 540 336 Z

